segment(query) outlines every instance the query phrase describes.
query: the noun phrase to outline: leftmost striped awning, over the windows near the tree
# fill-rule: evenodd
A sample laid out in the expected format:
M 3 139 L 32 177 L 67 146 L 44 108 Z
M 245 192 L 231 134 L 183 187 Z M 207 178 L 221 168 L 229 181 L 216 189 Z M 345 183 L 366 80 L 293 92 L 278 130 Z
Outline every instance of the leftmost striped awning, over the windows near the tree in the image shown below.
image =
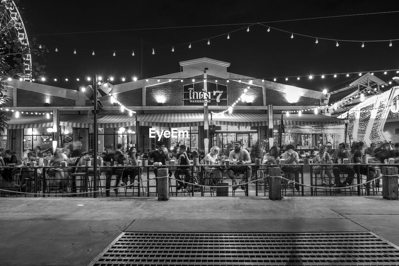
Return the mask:
M 46 115 L 28 115 L 24 114 L 18 118 L 11 118 L 7 122 L 8 129 L 25 129 L 25 128 L 36 128 L 36 127 L 52 127 L 53 119 L 52 115 L 47 119 Z

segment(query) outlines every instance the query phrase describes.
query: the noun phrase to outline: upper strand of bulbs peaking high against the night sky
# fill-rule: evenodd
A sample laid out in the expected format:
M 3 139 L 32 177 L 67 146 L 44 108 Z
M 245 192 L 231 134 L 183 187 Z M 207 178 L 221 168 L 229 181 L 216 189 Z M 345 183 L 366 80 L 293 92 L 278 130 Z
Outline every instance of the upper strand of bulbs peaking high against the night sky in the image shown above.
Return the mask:
M 315 41 L 314 41 L 315 44 L 318 44 L 318 43 L 319 43 L 319 40 L 326 40 L 326 41 L 334 42 L 335 45 L 336 45 L 337 47 L 339 46 L 339 43 L 338 43 L 338 42 L 356 42 L 356 43 L 361 43 L 361 45 L 360 45 L 361 48 L 363 48 L 363 47 L 365 46 L 365 43 L 367 43 L 367 42 L 385 42 L 385 43 L 387 44 L 387 46 L 391 47 L 393 41 L 398 41 L 398 40 L 399 40 L 399 39 L 386 39 L 386 40 L 345 40 L 345 39 L 340 39 L 340 38 L 331 39 L 331 38 L 323 38 L 323 37 L 318 37 L 318 36 L 310 36 L 310 35 L 306 35 L 306 34 L 299 34 L 299 33 L 291 32 L 291 31 L 286 31 L 286 30 L 282 30 L 282 29 L 279 29 L 279 28 L 271 27 L 271 26 L 269 26 L 269 25 L 265 25 L 265 24 L 263 24 L 263 23 L 252 23 L 252 24 L 249 24 L 249 25 L 247 25 L 247 26 L 237 28 L 236 30 L 233 30 L 233 31 L 224 32 L 224 33 L 222 33 L 222 34 L 218 34 L 218 35 L 215 35 L 215 36 L 212 36 L 212 37 L 209 37 L 209 38 L 205 38 L 205 39 L 195 40 L 195 41 L 191 41 L 191 42 L 184 42 L 184 43 L 177 44 L 177 45 L 174 45 L 174 46 L 176 46 L 176 47 L 178 47 L 178 46 L 186 46 L 186 47 L 187 47 L 187 46 L 188 46 L 188 48 L 191 48 L 191 44 L 192 44 L 192 43 L 204 42 L 204 41 L 207 41 L 207 44 L 209 45 L 211 39 L 218 38 L 218 37 L 221 37 L 221 36 L 227 36 L 227 39 L 229 39 L 229 38 L 230 38 L 230 33 L 237 32 L 237 31 L 243 30 L 243 29 L 245 29 L 247 32 L 249 32 L 249 28 L 250 28 L 251 26 L 253 26 L 253 25 L 256 25 L 256 24 L 259 24 L 259 25 L 261 25 L 261 26 L 266 27 L 266 28 L 267 28 L 267 32 L 270 32 L 270 30 L 273 29 L 273 30 L 277 30 L 277 31 L 280 31 L 280 32 L 287 33 L 287 34 L 289 34 L 289 36 L 290 36 L 291 39 L 294 38 L 294 35 L 296 35 L 296 36 L 302 36 L 302 37 L 311 38 L 312 40 L 315 40 Z M 48 43 L 37 42 L 37 41 L 31 41 L 31 42 L 34 42 L 34 43 L 38 44 L 39 49 L 42 48 L 42 46 L 41 46 L 42 44 L 45 44 L 45 45 L 48 45 L 48 46 L 53 46 L 53 47 L 55 47 L 55 52 L 58 52 L 58 48 L 65 48 L 65 49 L 71 50 L 71 51 L 73 52 L 73 54 L 76 54 L 76 50 L 92 51 L 92 55 L 93 55 L 93 56 L 95 55 L 95 53 L 94 53 L 95 50 L 96 50 L 96 51 L 102 51 L 102 52 L 113 52 L 113 56 L 115 56 L 115 52 L 131 52 L 131 51 L 132 51 L 131 48 L 130 48 L 130 49 L 126 49 L 126 50 L 115 50 L 115 49 L 111 49 L 111 50 L 97 50 L 97 49 L 93 49 L 93 48 L 75 48 L 75 47 L 69 47 L 69 46 L 60 46 L 60 45 L 56 45 L 56 44 L 48 44 Z M 174 46 L 172 46 L 172 52 L 174 52 Z M 169 49 L 170 49 L 170 47 L 171 47 L 171 45 L 159 46 L 159 47 L 153 47 L 153 48 L 144 48 L 144 49 L 141 49 L 141 51 L 150 50 L 150 51 L 152 51 L 152 54 L 155 54 L 155 50 L 156 50 L 156 49 L 162 49 L 162 48 L 169 48 Z M 138 50 L 138 49 L 137 49 L 137 50 Z M 132 56 L 134 56 L 134 53 L 132 53 Z

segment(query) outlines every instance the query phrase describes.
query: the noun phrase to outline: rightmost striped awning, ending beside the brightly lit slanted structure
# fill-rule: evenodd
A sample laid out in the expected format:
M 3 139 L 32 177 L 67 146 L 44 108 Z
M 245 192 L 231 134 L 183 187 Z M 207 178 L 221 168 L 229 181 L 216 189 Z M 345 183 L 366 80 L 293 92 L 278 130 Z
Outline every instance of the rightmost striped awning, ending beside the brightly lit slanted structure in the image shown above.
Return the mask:
M 284 125 L 325 125 L 325 124 L 345 124 L 348 123 L 346 119 L 338 119 L 327 115 L 316 115 L 304 113 L 302 115 L 291 114 L 282 115 Z M 273 114 L 273 124 L 280 125 L 281 114 Z

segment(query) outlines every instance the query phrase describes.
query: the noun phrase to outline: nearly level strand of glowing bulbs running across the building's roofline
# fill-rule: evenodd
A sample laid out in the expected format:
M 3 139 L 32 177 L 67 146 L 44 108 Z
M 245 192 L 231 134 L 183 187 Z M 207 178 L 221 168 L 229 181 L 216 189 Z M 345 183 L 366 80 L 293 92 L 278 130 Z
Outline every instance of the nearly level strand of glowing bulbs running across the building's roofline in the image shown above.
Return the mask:
M 265 81 L 265 80 L 277 81 L 278 79 L 284 79 L 285 81 L 288 81 L 290 78 L 294 78 L 294 77 L 296 77 L 296 79 L 300 79 L 302 77 L 305 77 L 307 80 L 310 80 L 310 79 L 315 79 L 316 77 L 320 77 L 321 79 L 325 79 L 327 76 L 333 76 L 334 78 L 337 78 L 338 75 L 345 75 L 346 77 L 350 77 L 351 74 L 356 74 L 356 75 L 361 76 L 363 73 L 370 73 L 371 75 L 374 75 L 374 73 L 379 73 L 379 72 L 382 72 L 384 75 L 388 75 L 389 72 L 391 72 L 391 71 L 395 72 L 396 74 L 399 73 L 399 69 L 384 69 L 384 70 L 374 70 L 374 71 L 354 71 L 354 72 L 327 73 L 327 74 L 323 73 L 323 74 L 317 74 L 317 75 L 316 74 L 289 75 L 289 76 L 284 75 L 284 76 L 281 76 L 281 77 L 264 77 L 264 78 L 259 78 L 259 80 L 261 80 L 261 81 Z M 83 77 L 82 76 L 80 76 L 80 77 L 61 77 L 61 76 L 57 76 L 57 77 L 32 77 L 31 81 L 47 81 L 49 79 L 56 79 L 54 81 L 59 81 L 58 79 L 64 79 L 65 81 L 68 81 L 71 78 L 72 79 L 76 79 L 76 81 L 80 81 L 80 79 L 83 78 Z M 90 79 L 92 79 L 92 78 L 93 77 L 86 76 L 83 79 L 85 79 L 87 81 L 90 81 Z M 192 79 L 192 78 L 184 78 L 184 79 L 182 79 L 181 77 L 148 77 L 148 78 L 145 79 L 145 81 L 148 82 L 150 79 L 153 79 L 153 80 L 154 79 L 155 80 L 159 79 L 160 81 L 161 80 L 168 80 L 168 79 L 172 79 L 172 80 L 180 79 L 183 82 L 184 79 Z M 219 78 L 219 79 L 220 80 L 226 80 L 226 82 L 229 82 L 229 79 L 223 79 L 223 78 Z M 257 79 L 257 78 L 247 78 L 247 79 L 241 78 L 238 81 L 239 82 L 247 81 L 247 83 L 250 83 L 251 80 L 253 81 L 255 79 Z M 8 81 L 11 81 L 11 80 L 12 80 L 12 78 L 8 77 Z M 20 78 L 20 80 L 24 80 L 24 79 Z M 109 80 L 115 80 L 115 78 L 110 76 Z M 124 81 L 126 81 L 126 78 L 125 77 L 120 77 L 120 80 L 122 80 L 124 82 Z M 132 77 L 132 80 L 133 81 L 137 81 L 138 79 L 137 79 L 137 77 Z M 160 82 L 160 81 L 158 81 L 158 82 Z

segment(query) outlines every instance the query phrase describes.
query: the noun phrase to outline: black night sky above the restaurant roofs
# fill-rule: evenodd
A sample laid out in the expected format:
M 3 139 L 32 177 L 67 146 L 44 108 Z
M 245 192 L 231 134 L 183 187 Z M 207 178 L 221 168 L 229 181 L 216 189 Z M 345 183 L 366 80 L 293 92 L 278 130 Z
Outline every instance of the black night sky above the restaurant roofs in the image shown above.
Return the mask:
M 227 40 L 223 35 L 207 41 L 178 46 L 231 32 L 256 22 L 292 20 L 322 16 L 338 16 L 399 10 L 393 6 L 375 1 L 21 1 L 23 20 L 28 35 L 36 36 L 43 43 L 77 48 L 47 46 L 48 77 L 84 77 L 98 73 L 112 75 L 121 83 L 121 77 L 131 81 L 132 76 L 155 77 L 179 71 L 179 62 L 195 58 L 213 58 L 231 63 L 229 72 L 258 78 L 281 77 L 287 75 L 309 75 L 322 73 L 344 73 L 352 71 L 384 70 L 399 68 L 399 41 L 361 43 L 315 40 L 301 36 L 290 38 L 289 33 L 271 30 L 261 25 L 230 34 Z M 352 16 L 343 18 L 323 18 L 292 22 L 273 22 L 268 25 L 289 32 L 332 39 L 350 40 L 390 40 L 397 39 L 397 18 L 399 13 Z M 89 32 L 194 26 L 209 24 L 238 24 L 235 26 L 213 26 L 162 30 L 130 30 L 119 32 L 97 32 L 82 34 L 56 34 L 69 32 Z M 141 62 L 141 41 L 143 54 Z M 174 52 L 171 52 L 172 45 Z M 155 50 L 151 48 L 164 47 Z M 83 51 L 78 48 L 94 49 Z M 134 50 L 128 52 L 101 52 L 96 50 Z M 34 60 L 38 60 L 33 58 Z M 142 64 L 142 75 L 141 75 Z M 376 76 L 389 80 L 395 72 Z M 351 75 L 350 78 L 355 78 Z M 88 85 L 89 81 L 68 82 L 46 81 L 47 84 L 69 89 Z M 322 80 L 302 78 L 277 79 L 298 87 L 322 90 L 338 83 L 345 85 L 348 78 L 330 76 Z

